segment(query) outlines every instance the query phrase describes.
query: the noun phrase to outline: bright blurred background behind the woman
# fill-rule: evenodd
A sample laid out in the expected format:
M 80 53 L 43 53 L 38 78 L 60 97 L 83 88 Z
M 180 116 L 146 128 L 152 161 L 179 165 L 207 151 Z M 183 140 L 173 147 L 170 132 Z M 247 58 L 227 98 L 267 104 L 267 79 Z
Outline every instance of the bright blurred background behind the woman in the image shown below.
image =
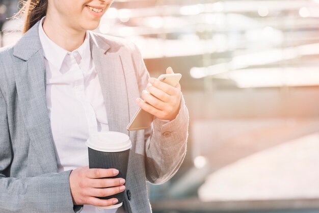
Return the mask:
M 0 0 L 0 45 L 21 37 Z M 96 32 L 183 75 L 188 153 L 155 213 L 319 212 L 319 0 L 115 1 Z

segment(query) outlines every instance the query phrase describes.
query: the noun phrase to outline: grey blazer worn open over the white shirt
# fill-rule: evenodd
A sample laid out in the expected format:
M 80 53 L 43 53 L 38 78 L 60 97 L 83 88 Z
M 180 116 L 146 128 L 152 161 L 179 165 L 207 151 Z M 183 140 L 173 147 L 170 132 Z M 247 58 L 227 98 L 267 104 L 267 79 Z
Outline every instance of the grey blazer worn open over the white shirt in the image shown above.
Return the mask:
M 46 108 L 45 66 L 37 22 L 12 46 L 0 49 L 0 212 L 79 212 L 69 187 L 71 171 L 58 173 Z M 146 181 L 163 183 L 180 167 L 188 138 L 182 98 L 171 122 L 155 119 L 145 130 L 126 130 L 149 74 L 131 42 L 90 32 L 110 131 L 128 134 L 130 149 L 124 209 L 151 212 Z

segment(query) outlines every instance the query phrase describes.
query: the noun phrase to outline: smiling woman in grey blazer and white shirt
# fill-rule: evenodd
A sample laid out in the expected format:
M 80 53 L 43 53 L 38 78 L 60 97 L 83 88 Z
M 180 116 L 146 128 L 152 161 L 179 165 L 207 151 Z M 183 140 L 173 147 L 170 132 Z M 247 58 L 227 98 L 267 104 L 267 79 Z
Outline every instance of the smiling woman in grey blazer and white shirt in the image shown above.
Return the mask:
M 29 0 L 20 10 L 24 35 L 0 49 L 0 212 L 151 212 L 146 181 L 163 183 L 182 163 L 180 85 L 149 78 L 131 42 L 90 31 L 111 4 Z M 152 127 L 128 132 L 138 107 L 155 116 Z M 126 180 L 100 179 L 118 171 L 87 166 L 84 142 L 108 130 L 132 141 Z M 96 197 L 124 190 L 118 209 L 94 207 L 117 203 Z

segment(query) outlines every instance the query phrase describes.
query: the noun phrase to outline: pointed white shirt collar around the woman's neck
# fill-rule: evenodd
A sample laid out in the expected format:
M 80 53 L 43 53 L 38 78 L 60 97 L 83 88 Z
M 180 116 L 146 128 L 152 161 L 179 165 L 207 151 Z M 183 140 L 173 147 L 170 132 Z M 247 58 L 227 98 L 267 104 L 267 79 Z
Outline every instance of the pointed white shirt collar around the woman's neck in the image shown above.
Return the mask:
M 40 37 L 40 42 L 43 49 L 43 56 L 51 64 L 53 64 L 58 70 L 60 70 L 62 63 L 64 61 L 64 58 L 69 51 L 62 48 L 58 44 L 56 44 L 45 34 L 42 27 L 44 18 L 45 16 L 41 18 L 39 23 L 39 37 Z M 90 34 L 88 31 L 86 31 L 85 40 L 83 44 L 79 46 L 77 49 L 73 50 L 72 52 L 76 52 L 76 51 L 78 52 L 78 54 L 81 56 L 82 59 L 88 59 L 91 56 Z

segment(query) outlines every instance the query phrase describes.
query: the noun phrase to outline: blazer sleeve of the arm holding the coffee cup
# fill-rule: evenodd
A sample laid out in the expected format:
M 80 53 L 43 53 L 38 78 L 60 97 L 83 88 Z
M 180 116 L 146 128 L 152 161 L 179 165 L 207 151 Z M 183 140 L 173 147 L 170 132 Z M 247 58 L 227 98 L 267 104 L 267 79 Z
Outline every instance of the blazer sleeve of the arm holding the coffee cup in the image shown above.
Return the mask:
M 76 212 L 70 171 L 14 178 L 9 177 L 12 161 L 7 103 L 0 89 L 0 212 Z

